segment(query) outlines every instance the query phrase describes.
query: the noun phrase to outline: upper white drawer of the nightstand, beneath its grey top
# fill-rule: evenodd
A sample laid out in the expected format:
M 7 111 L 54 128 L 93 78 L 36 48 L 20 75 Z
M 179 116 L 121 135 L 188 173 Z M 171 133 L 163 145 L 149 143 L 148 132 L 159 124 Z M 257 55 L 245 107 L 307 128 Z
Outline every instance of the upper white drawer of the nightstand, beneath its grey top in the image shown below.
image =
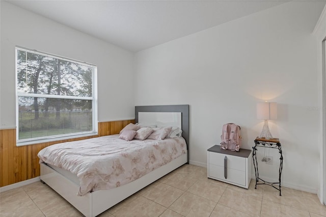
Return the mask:
M 227 157 L 227 168 L 246 172 L 246 158 L 228 154 L 209 152 L 209 165 L 220 166 L 224 169 L 224 158 Z M 224 174 L 224 173 L 223 173 Z

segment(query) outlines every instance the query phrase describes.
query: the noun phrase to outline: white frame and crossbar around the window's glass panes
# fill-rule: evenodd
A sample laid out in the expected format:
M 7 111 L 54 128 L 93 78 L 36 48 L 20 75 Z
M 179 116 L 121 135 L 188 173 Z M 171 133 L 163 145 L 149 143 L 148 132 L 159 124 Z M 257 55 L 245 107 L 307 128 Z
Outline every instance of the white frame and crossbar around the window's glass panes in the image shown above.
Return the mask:
M 62 95 L 48 95 L 48 94 L 26 94 L 26 93 L 18 93 L 17 91 L 17 50 L 22 50 L 26 52 L 36 53 L 39 55 L 44 55 L 50 58 L 56 58 L 61 59 L 73 63 L 77 63 L 80 65 L 90 66 L 93 67 L 93 97 L 77 97 L 77 96 L 62 96 Z M 67 139 L 74 139 L 74 138 L 80 138 L 80 137 L 88 137 L 92 135 L 98 135 L 98 111 L 97 111 L 97 66 L 94 64 L 73 60 L 70 58 L 65 58 L 57 55 L 52 55 L 50 53 L 33 50 L 25 47 L 16 46 L 15 47 L 15 91 L 16 91 L 16 146 L 24 146 L 24 145 L 32 145 L 37 143 L 46 143 L 46 142 L 53 142 L 53 141 L 59 141 L 59 140 L 67 140 Z M 62 135 L 51 135 L 48 137 L 39 137 L 39 138 L 31 138 L 31 139 L 22 139 L 19 140 L 19 96 L 28 96 L 28 97 L 46 97 L 46 98 L 66 98 L 66 99 L 85 99 L 85 100 L 92 100 L 92 131 L 86 131 L 86 132 L 77 132 L 77 133 L 69 133 L 69 134 L 62 134 Z

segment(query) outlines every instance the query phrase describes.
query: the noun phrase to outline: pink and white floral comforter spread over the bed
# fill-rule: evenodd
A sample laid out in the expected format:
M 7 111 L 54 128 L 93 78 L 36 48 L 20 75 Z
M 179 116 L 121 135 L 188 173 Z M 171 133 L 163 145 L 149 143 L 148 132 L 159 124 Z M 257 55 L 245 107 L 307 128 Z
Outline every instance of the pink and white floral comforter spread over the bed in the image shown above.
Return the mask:
M 65 169 L 79 179 L 79 196 L 127 184 L 187 152 L 183 138 L 124 141 L 119 135 L 48 146 L 41 162 Z

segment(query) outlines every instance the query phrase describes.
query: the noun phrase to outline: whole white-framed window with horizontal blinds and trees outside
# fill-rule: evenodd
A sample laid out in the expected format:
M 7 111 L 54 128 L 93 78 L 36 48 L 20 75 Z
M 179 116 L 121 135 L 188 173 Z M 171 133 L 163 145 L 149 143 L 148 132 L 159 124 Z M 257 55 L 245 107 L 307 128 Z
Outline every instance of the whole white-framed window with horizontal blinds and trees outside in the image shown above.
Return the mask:
M 16 47 L 17 146 L 96 134 L 96 70 Z

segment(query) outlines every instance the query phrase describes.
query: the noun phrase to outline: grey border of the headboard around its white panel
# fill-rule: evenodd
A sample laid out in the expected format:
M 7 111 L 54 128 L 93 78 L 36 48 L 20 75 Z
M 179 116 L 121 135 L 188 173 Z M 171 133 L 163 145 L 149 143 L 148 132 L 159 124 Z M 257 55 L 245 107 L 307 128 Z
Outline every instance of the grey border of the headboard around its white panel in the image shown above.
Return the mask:
M 182 137 L 187 143 L 187 159 L 189 164 L 189 105 L 145 105 L 135 106 L 135 123 L 138 123 L 139 112 L 180 112 Z

